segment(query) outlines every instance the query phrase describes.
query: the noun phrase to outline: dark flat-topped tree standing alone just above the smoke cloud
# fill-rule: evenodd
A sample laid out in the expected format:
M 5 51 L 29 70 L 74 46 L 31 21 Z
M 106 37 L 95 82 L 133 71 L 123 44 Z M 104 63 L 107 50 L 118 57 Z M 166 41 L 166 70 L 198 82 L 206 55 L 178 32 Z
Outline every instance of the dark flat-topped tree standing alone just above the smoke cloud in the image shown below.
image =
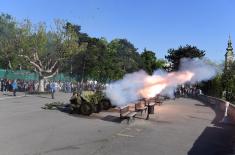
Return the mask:
M 179 69 L 181 58 L 202 58 L 205 56 L 205 51 L 198 49 L 196 46 L 186 45 L 180 46 L 178 49 L 169 49 L 168 55 L 165 58 L 170 63 L 169 70 L 175 71 Z

